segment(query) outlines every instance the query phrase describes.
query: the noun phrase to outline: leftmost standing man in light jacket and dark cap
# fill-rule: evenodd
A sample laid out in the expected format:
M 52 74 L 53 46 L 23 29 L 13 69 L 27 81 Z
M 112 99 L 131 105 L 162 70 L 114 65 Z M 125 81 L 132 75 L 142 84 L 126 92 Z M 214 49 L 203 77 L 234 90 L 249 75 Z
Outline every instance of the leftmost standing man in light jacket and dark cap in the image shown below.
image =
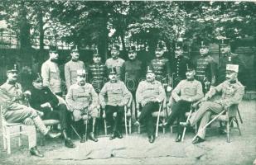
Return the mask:
M 59 54 L 56 46 L 51 46 L 49 50 L 49 59 L 41 65 L 41 77 L 43 85 L 49 87 L 52 92 L 62 97 L 60 68 L 57 64 Z

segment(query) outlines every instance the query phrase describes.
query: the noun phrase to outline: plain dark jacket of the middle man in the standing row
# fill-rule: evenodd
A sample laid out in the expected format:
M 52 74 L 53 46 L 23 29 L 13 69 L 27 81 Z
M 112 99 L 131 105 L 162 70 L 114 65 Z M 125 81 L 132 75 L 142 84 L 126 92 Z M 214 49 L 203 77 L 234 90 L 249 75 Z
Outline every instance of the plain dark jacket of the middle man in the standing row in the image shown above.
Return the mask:
M 125 70 L 125 84 L 128 90 L 135 92 L 138 87 L 138 82 L 142 78 L 143 68 L 142 62 L 138 59 L 128 60 L 124 63 Z

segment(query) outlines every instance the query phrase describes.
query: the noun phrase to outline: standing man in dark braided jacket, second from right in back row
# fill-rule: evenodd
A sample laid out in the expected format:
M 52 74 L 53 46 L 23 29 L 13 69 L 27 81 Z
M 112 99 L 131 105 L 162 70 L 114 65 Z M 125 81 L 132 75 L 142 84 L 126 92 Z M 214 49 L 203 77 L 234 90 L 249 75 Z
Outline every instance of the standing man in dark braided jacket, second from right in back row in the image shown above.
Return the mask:
M 200 45 L 200 57 L 196 60 L 196 79 L 203 85 L 203 91 L 207 92 L 210 86 L 215 86 L 216 77 L 216 63 L 210 56 L 209 45 L 205 45 L 205 42 L 201 41 Z

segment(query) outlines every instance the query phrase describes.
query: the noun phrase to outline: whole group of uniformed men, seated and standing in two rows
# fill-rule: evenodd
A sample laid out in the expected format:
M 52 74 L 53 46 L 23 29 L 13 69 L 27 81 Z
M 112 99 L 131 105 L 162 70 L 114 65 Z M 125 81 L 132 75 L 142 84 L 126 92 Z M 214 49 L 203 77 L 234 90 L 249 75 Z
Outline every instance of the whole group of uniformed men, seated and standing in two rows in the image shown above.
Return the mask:
M 32 75 L 30 92 L 22 92 L 22 87 L 17 82 L 17 65 L 7 69 L 7 82 L 0 87 L 2 114 L 7 122 L 35 125 L 42 134 L 51 138 L 60 136 L 60 133 L 51 132 L 42 120 L 60 120 L 65 146 L 75 148 L 68 134 L 70 127 L 75 125 L 75 132 L 80 134 L 81 143 L 85 143 L 87 137 L 97 142 L 95 123 L 99 115 L 111 125 L 112 134 L 109 139 L 122 139 L 123 115 L 127 112 L 125 110 L 132 108 L 131 102 L 134 100 L 137 109 L 134 124 L 141 125 L 144 122 L 148 140 L 153 143 L 155 130 L 152 112 L 158 111 L 162 102 L 167 100 L 166 92 L 171 92 L 173 88 L 170 101 L 167 101 L 171 114 L 168 115 L 167 123 L 162 126 L 172 125 L 177 119 L 176 142 L 179 142 L 182 126 L 196 125 L 201 119 L 200 127 L 203 127 L 212 113 L 220 113 L 226 106 L 238 104 L 243 97 L 244 86 L 238 81 L 241 63 L 236 64 L 237 60 L 233 60 L 237 59 L 237 55 L 231 54 L 229 44 L 222 43 L 220 50 L 224 59 L 220 59 L 219 69 L 216 69 L 214 59 L 208 54 L 209 45 L 203 42 L 196 64 L 183 55 L 181 46 L 176 45 L 175 57 L 169 61 L 163 57 L 163 46 L 157 45 L 155 59 L 147 67 L 143 67 L 134 46 L 128 49 L 129 60 L 124 61 L 118 57 L 119 46 L 114 45 L 111 58 L 105 64 L 96 53 L 93 54 L 94 64 L 85 70 L 85 64 L 79 60 L 79 50 L 75 46 L 70 51 L 70 61 L 65 64 L 67 94 L 63 99 L 60 68 L 56 63 L 58 52 L 56 48 L 51 48 L 50 58 L 41 66 L 41 74 Z M 143 79 L 145 70 L 146 78 Z M 219 82 L 216 81 L 216 75 L 220 78 Z M 219 85 L 215 87 L 217 84 Z M 221 100 L 207 101 L 217 92 L 222 92 Z M 22 99 L 27 96 L 29 106 L 22 103 Z M 203 102 L 199 111 L 191 116 L 188 123 L 182 123 L 188 107 L 196 101 Z M 198 134 L 193 144 L 204 140 L 203 132 Z M 30 153 L 43 157 L 36 144 L 30 149 Z

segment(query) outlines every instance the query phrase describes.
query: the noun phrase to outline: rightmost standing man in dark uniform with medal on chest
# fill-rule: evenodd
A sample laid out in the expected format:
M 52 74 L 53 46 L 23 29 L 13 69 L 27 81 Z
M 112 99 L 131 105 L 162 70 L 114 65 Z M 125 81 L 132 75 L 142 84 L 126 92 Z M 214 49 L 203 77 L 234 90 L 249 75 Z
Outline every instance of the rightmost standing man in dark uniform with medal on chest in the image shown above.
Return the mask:
M 227 64 L 239 65 L 239 81 L 244 77 L 245 64 L 244 60 L 239 58 L 238 54 L 231 53 L 231 47 L 228 39 L 222 39 L 220 44 L 220 60 L 218 67 L 218 84 L 225 81 L 225 69 Z

